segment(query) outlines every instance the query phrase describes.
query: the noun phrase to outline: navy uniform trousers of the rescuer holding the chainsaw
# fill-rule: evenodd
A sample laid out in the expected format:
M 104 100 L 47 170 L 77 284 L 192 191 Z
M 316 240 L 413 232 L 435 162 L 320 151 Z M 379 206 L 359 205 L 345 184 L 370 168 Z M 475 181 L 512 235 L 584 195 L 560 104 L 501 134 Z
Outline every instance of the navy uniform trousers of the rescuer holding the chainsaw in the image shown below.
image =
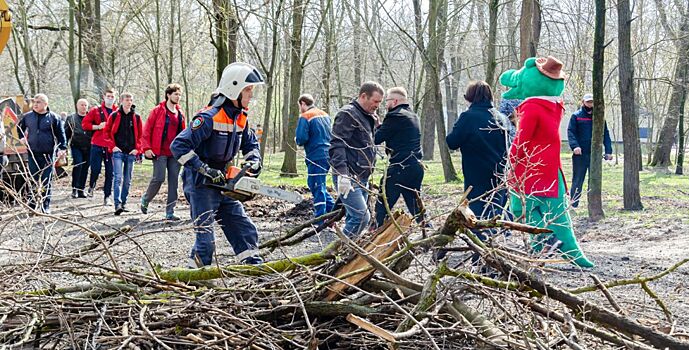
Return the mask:
M 182 172 L 184 196 L 191 207 L 191 219 L 196 233 L 190 258 L 200 261 L 204 266 L 213 262 L 215 221 L 230 242 L 237 260 L 258 257 L 258 230 L 246 215 L 242 203 L 222 195 L 219 190 L 206 187 L 202 177 L 203 175 L 189 168 L 184 168 Z

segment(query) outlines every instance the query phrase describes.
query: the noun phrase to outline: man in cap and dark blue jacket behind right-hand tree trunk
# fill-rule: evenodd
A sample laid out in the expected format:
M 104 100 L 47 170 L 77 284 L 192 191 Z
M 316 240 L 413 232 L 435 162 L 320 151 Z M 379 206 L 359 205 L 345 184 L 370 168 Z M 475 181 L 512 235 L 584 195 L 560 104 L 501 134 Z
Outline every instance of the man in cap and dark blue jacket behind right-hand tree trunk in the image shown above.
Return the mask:
M 591 135 L 593 133 L 593 95 L 585 94 L 582 99 L 581 108 L 572 114 L 567 127 L 567 139 L 569 147 L 572 149 L 572 188 L 570 198 L 572 207 L 579 206 L 581 190 L 584 187 L 586 173 L 591 164 Z M 603 135 L 603 145 L 605 146 L 605 160 L 612 159 L 612 141 L 608 124 L 605 123 Z M 599 151 L 600 152 L 600 151 Z M 597 152 L 596 152 L 597 153 Z M 597 153 L 600 157 L 600 153 Z

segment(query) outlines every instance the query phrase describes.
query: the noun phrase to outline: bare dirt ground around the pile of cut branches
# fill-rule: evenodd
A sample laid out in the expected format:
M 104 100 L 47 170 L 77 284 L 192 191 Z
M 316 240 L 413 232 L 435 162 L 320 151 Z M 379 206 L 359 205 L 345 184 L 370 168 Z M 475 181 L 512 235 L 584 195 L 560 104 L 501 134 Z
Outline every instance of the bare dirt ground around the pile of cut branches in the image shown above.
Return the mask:
M 117 217 L 114 216 L 114 208 L 103 206 L 102 192 L 97 192 L 95 198 L 72 199 L 67 185 L 67 179 L 57 181 L 51 206 L 53 215 L 61 218 L 61 222 L 46 217 L 30 217 L 21 207 L 0 209 L 0 271 L 8 263 L 31 261 L 53 253 L 65 254 L 88 243 L 84 229 L 74 223 L 99 233 L 111 232 L 123 225 L 132 226 L 132 244 L 113 247 L 121 268 L 146 270 L 149 261 L 165 268 L 180 267 L 187 263 L 194 235 L 188 205 L 182 196 L 176 213 L 183 221 L 173 223 L 163 220 L 164 191 L 150 205 L 149 213 L 143 215 L 139 211 L 143 188 L 133 189 L 127 206 L 130 211 Z M 304 189 L 300 191 L 304 192 Z M 456 205 L 460 195 L 459 191 L 454 191 L 424 196 L 435 227 L 442 225 L 443 214 Z M 400 204 L 402 203 L 398 203 L 398 206 Z M 590 285 L 590 274 L 597 275 L 603 281 L 633 278 L 637 275 L 650 276 L 689 257 L 689 215 L 666 219 L 659 215 L 668 206 L 680 210 L 689 209 L 689 200 L 677 198 L 675 202 L 668 203 L 667 200 L 644 198 L 644 204 L 646 209 L 639 215 L 611 215 L 598 223 L 590 223 L 585 209 L 579 209 L 573 216 L 575 230 L 584 251 L 598 266 L 590 271 L 581 271 L 570 265 L 552 265 L 547 266 L 549 271 L 543 273 L 543 277 L 562 287 L 575 288 Z M 261 241 L 275 238 L 311 218 L 308 202 L 294 206 L 260 198 L 248 202 L 246 210 L 258 226 Z M 689 210 L 685 213 L 689 213 Z M 218 261 L 220 264 L 233 263 L 234 254 L 220 232 L 216 227 Z M 325 232 L 298 246 L 276 250 L 267 259 L 318 251 L 333 239 L 332 233 Z M 524 246 L 521 236 L 512 235 L 508 242 L 515 247 Z M 453 259 L 460 261 L 462 257 L 456 256 Z M 47 283 L 70 283 L 60 276 L 36 272 L 33 276 L 24 276 L 13 282 L 36 287 Z M 676 327 L 686 331 L 689 328 L 689 266 L 683 266 L 661 280 L 649 283 L 649 286 L 673 313 Z M 612 293 L 619 298 L 622 308 L 642 322 L 657 324 L 657 319 L 662 317 L 657 305 L 638 285 L 614 288 Z M 589 293 L 587 296 L 607 306 L 599 293 Z M 654 315 L 655 318 L 649 315 Z

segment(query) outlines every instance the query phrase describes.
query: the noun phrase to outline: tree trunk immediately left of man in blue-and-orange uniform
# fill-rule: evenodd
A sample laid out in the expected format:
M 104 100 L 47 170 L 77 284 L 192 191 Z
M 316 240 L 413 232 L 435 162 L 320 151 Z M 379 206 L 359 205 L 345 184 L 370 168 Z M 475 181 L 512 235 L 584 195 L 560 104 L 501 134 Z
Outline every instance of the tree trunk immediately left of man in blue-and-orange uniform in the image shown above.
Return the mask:
M 297 175 L 297 144 L 294 140 L 297 129 L 297 118 L 299 116 L 299 94 L 301 91 L 301 77 L 304 74 L 304 67 L 301 61 L 301 41 L 302 28 L 304 25 L 304 14 L 306 6 L 303 0 L 294 0 L 292 9 L 292 38 L 290 45 L 290 98 L 289 116 L 287 125 L 287 148 L 285 149 L 285 159 L 282 162 L 280 176 Z

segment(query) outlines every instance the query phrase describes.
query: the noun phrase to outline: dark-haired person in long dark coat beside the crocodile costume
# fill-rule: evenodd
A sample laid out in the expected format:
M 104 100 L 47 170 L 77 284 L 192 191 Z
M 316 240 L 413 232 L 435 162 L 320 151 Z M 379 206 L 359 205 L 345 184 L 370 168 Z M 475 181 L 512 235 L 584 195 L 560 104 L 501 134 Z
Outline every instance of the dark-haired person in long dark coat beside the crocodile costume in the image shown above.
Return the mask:
M 493 92 L 486 82 L 471 82 L 464 99 L 469 108 L 459 115 L 445 141 L 450 149 L 462 152 L 464 189 L 472 187 L 469 208 L 477 217 L 491 218 L 502 213 L 506 200 L 501 185 L 508 130 L 501 126 L 503 115 L 493 108 Z

